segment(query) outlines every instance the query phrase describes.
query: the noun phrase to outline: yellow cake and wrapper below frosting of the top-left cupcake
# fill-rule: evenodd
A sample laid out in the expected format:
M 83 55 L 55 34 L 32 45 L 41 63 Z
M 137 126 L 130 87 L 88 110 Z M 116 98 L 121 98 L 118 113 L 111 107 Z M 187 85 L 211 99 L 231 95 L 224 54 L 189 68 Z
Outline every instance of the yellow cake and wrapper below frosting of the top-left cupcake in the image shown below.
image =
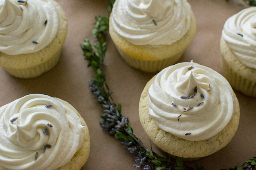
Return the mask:
M 42 70 L 43 72 L 46 72 L 50 70 L 53 66 L 55 66 L 56 63 L 59 61 L 61 48 L 65 42 L 65 39 L 68 33 L 68 25 L 67 25 L 67 18 L 65 16 L 63 9 L 60 7 L 60 5 L 57 2 L 53 1 L 53 3 L 56 5 L 56 9 L 59 15 L 59 30 L 57 35 L 54 37 L 54 39 L 49 45 L 47 45 L 44 49 L 35 53 L 7 55 L 0 52 L 0 66 L 2 66 L 10 74 L 16 77 L 20 77 L 19 75 L 15 75 L 15 71 L 16 72 L 24 71 L 24 70 L 26 71 L 26 69 L 33 68 L 33 67 L 35 67 L 35 70 L 38 70 L 38 68 L 36 68 L 37 66 L 42 64 L 49 65 L 49 63 L 47 62 L 54 62 L 54 63 L 50 63 L 50 67 L 46 66 L 46 69 Z M 27 73 L 24 73 L 24 74 L 27 74 Z M 22 76 L 21 78 L 32 78 L 36 76 L 38 75 L 35 75 L 35 76 L 25 75 L 25 76 Z

